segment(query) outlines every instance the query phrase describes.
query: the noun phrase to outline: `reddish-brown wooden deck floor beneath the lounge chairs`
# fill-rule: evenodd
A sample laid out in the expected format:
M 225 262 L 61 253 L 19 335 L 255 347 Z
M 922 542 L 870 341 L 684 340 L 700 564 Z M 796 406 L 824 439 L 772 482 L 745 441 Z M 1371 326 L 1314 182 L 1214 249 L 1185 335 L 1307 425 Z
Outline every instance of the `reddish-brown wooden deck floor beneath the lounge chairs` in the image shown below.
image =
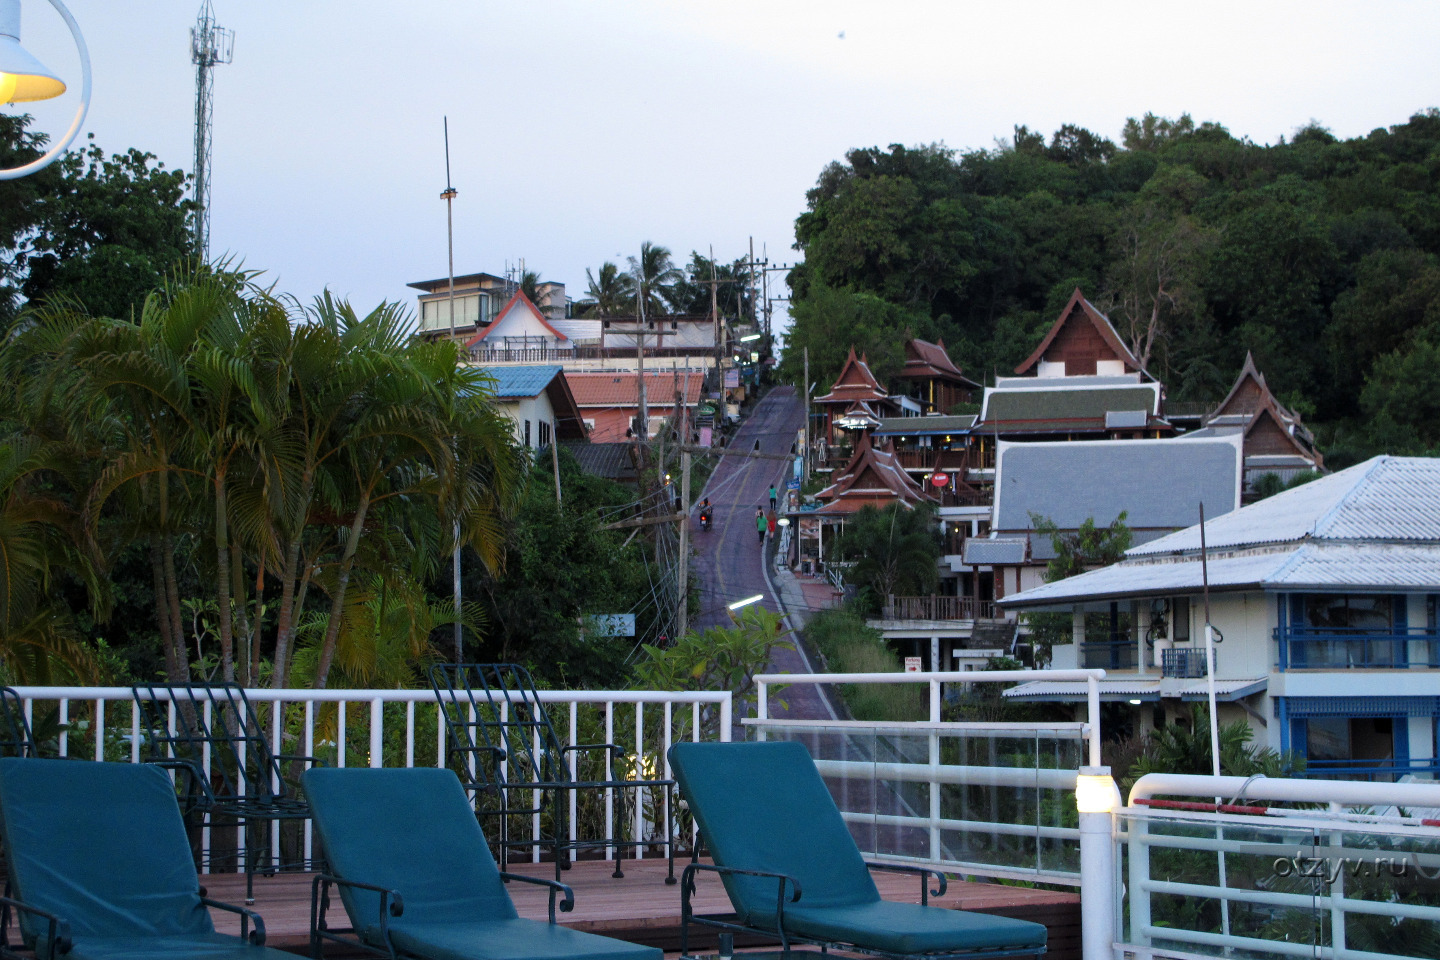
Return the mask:
M 511 864 L 517 874 L 531 877 L 553 877 L 550 864 Z M 665 862 L 662 859 L 625 861 L 625 878 L 611 877 L 613 864 L 588 861 L 566 871 L 564 882 L 575 889 L 575 911 L 559 914 L 566 927 L 590 933 L 645 943 L 667 951 L 680 948 L 680 887 L 665 884 Z M 681 864 L 675 865 L 678 875 Z M 886 900 L 920 902 L 920 881 L 901 874 L 877 872 L 876 885 Z M 212 874 L 202 877 L 210 897 L 232 904 L 245 900 L 245 878 L 238 874 Z M 298 954 L 310 951 L 310 889 L 308 874 L 284 874 L 255 878 L 255 907 L 265 918 L 268 946 Z M 510 895 L 521 917 L 546 918 L 549 891 L 531 884 L 511 884 Z M 713 874 L 701 874 L 696 884 L 696 913 L 726 913 L 730 901 L 724 888 Z M 936 905 L 976 910 L 1004 917 L 1034 920 L 1050 928 L 1050 951 L 1047 960 L 1079 960 L 1080 957 L 1080 895 L 1002 887 L 999 884 L 952 882 L 949 892 Z M 215 925 L 223 933 L 239 933 L 239 920 L 233 914 L 215 914 Z M 331 924 L 346 923 L 344 908 L 338 902 L 331 907 Z M 703 936 L 703 934 L 701 934 Z M 756 940 L 753 944 L 760 946 Z M 713 950 L 714 936 L 691 938 L 691 948 Z M 327 957 L 346 956 L 338 946 L 325 950 Z M 363 954 L 354 954 L 363 956 Z

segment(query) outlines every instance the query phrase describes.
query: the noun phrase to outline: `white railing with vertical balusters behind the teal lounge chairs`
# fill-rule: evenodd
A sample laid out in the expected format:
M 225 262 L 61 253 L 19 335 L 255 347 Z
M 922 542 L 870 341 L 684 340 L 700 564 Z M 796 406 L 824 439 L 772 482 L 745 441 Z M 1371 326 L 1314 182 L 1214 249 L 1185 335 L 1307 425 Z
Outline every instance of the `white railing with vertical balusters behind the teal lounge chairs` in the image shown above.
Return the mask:
M 95 760 L 128 760 L 131 763 L 141 761 L 141 714 L 130 687 L 17 687 L 14 689 L 23 702 L 26 720 L 32 724 L 35 721 L 36 702 L 53 702 L 56 705 L 53 750 L 58 756 L 89 757 Z M 156 688 L 156 692 L 160 698 L 166 697 L 164 688 Z M 312 757 L 317 756 L 317 748 L 323 748 L 323 753 L 325 754 L 331 754 L 333 751 L 333 756 L 327 756 L 327 760 L 340 767 L 344 767 L 347 763 L 354 766 L 354 761 L 370 767 L 383 767 L 387 766 L 387 733 L 393 734 L 403 723 L 405 735 L 403 741 L 400 741 L 403 743 L 403 751 L 392 748 L 392 756 L 395 760 L 399 760 L 399 763 L 392 763 L 389 766 L 446 766 L 449 748 L 446 744 L 444 708 L 436 699 L 435 692 L 431 689 L 246 689 L 245 695 L 251 699 L 255 712 L 261 715 L 262 721 L 266 721 L 264 717 L 264 705 L 269 705 L 268 724 L 272 738 L 271 748 L 275 753 L 301 753 Z M 540 691 L 539 698 L 540 702 L 546 704 L 557 735 L 560 735 L 562 740 L 567 740 L 572 747 L 580 743 L 579 731 L 582 728 L 582 718 L 593 721 L 593 717 L 585 717 L 582 714 L 582 708 L 586 711 L 602 711 L 605 730 L 603 735 L 606 743 L 615 743 L 619 710 L 634 708 L 634 747 L 636 763 L 639 763 L 642 757 L 649 757 L 651 763 L 662 770 L 662 776 L 665 779 L 670 779 L 668 751 L 677 725 L 681 727 L 681 733 L 688 734 L 691 740 L 700 740 L 703 735 L 713 735 L 717 740 L 730 738 L 733 705 L 729 691 Z M 125 704 L 130 707 L 128 717 L 124 717 Z M 334 707 L 334 715 L 333 718 L 327 715 L 325 725 L 328 727 L 333 720 L 333 737 L 325 737 L 324 740 L 317 741 L 317 714 L 323 710 L 328 711 L 331 705 Z M 350 708 L 353 705 L 360 707 L 360 717 L 351 715 Z M 392 717 L 386 715 L 387 707 L 392 708 L 389 711 Z M 403 721 L 397 715 L 402 707 Z M 418 707 L 426 712 L 433 711 L 433 754 L 429 753 L 428 744 L 419 743 L 416 737 L 420 727 L 429 725 L 428 718 L 423 714 L 420 717 L 416 715 Z M 661 711 L 658 724 L 654 723 L 654 714 L 651 714 L 649 728 L 655 731 L 657 735 L 654 737 L 647 737 L 647 707 L 660 708 Z M 302 710 L 302 721 L 300 734 L 295 735 L 295 743 L 292 744 L 294 748 L 287 748 L 284 743 L 284 738 L 287 737 L 285 718 L 288 708 Z M 688 717 L 685 717 L 684 712 L 678 712 L 677 715 L 677 711 L 688 712 Z M 710 712 L 708 717 L 706 717 L 706 711 Z M 117 714 L 121 715 L 117 717 Z M 171 704 L 171 728 L 174 728 L 174 704 Z M 115 724 L 115 721 L 120 723 Z M 366 744 L 364 748 L 351 746 L 350 734 L 353 733 L 353 728 L 367 734 L 363 740 Z M 40 735 L 43 735 L 43 733 L 37 731 L 37 738 Z M 629 744 L 625 746 L 628 747 Z M 573 759 L 575 754 L 570 756 Z M 209 776 L 209 754 L 206 754 L 202 767 L 204 774 Z M 615 822 L 615 805 L 609 793 L 611 792 L 606 790 L 605 836 L 619 838 L 619 825 Z M 570 841 L 576 839 L 577 830 L 575 805 L 576 797 L 572 790 L 570 816 L 567 818 Z M 635 815 L 634 820 L 628 825 L 628 829 L 632 841 L 641 841 L 647 836 L 645 805 L 636 802 L 634 806 Z M 672 812 L 661 810 L 660 805 L 655 805 L 655 810 L 652 810 L 651 815 L 665 820 L 665 823 L 657 823 L 655 826 L 664 836 L 671 836 L 672 823 L 670 823 L 670 820 L 672 818 Z M 533 818 L 531 832 L 533 839 L 539 841 L 539 815 Z M 651 836 L 654 836 L 654 833 Z M 236 849 L 240 848 L 240 835 L 238 835 Z M 202 862 L 209 864 L 209 826 L 206 826 L 202 832 Z M 644 856 L 642 846 L 636 846 L 634 849 L 636 858 Z M 274 856 L 279 856 L 278 830 L 271 830 L 271 852 Z M 612 856 L 613 849 L 606 848 L 606 855 Z M 536 861 L 540 859 L 539 845 L 531 848 L 531 858 Z M 312 859 L 310 820 L 305 820 L 304 823 L 304 859 Z

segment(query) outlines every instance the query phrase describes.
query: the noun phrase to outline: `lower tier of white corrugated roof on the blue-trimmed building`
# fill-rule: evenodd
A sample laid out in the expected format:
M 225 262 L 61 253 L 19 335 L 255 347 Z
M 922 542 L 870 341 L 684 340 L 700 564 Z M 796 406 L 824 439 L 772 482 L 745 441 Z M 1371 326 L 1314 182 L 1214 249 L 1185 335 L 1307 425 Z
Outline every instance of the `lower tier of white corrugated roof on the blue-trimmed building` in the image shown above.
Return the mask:
M 1136 557 L 1001 600 L 1030 609 L 1122 597 L 1194 594 L 1200 557 Z M 1440 543 L 1305 543 L 1211 557 L 1211 590 L 1440 590 Z

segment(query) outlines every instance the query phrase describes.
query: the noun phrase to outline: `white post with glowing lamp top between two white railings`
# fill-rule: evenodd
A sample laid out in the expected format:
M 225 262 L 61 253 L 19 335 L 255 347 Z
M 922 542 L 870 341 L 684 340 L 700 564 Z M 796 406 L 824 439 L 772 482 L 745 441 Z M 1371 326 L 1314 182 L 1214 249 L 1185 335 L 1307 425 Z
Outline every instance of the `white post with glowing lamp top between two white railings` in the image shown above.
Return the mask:
M 1080 956 L 1115 960 L 1115 809 L 1120 792 L 1110 769 L 1080 767 L 1076 807 L 1080 810 Z

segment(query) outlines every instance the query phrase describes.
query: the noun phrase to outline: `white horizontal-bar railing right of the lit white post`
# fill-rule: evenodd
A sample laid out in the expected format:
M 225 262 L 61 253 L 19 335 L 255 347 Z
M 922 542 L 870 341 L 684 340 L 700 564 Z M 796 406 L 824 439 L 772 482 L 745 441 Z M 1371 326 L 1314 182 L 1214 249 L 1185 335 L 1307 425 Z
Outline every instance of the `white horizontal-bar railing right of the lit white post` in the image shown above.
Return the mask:
M 1115 947 L 1138 957 L 1434 956 L 1440 820 L 1427 816 L 1437 807 L 1437 783 L 1140 777 L 1115 819 L 1116 862 L 1128 861 L 1128 882 L 1113 885 Z

